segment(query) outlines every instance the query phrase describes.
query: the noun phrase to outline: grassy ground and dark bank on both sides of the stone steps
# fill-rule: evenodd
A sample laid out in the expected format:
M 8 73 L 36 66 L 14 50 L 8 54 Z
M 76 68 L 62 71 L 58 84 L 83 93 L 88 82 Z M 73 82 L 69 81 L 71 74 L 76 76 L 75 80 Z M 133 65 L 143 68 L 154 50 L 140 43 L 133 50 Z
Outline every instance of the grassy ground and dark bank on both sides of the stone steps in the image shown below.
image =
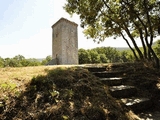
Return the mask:
M 108 65 L 108 69 L 112 67 Z M 133 81 L 130 84 L 147 89 L 139 95 L 159 99 L 159 70 L 135 63 L 117 69 L 127 71 L 124 76 Z M 0 89 L 0 119 L 4 120 L 133 120 L 137 117 L 109 94 L 107 85 L 82 66 L 1 68 Z

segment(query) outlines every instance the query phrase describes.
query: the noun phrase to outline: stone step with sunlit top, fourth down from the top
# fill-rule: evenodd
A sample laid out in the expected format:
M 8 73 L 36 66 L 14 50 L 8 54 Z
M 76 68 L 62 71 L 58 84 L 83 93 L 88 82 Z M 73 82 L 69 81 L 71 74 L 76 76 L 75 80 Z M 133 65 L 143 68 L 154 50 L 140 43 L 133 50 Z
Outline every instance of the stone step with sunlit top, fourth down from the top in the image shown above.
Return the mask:
M 115 98 L 128 98 L 137 93 L 137 89 L 134 86 L 128 85 L 112 86 L 109 91 Z

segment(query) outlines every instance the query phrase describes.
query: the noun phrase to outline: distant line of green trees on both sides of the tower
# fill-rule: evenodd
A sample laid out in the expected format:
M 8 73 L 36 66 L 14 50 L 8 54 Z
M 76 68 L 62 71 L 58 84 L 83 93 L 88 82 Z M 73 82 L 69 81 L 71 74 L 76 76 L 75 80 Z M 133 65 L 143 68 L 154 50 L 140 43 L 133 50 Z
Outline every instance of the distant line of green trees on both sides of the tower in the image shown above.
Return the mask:
M 142 47 L 139 48 L 141 51 Z M 157 40 L 153 45 L 158 58 L 160 58 L 160 40 Z M 116 62 L 133 62 L 135 57 L 130 49 L 118 50 L 113 47 L 97 47 L 93 49 L 79 49 L 79 64 L 95 64 L 95 63 L 116 63 Z M 17 55 L 13 58 L 1 58 L 0 57 L 0 68 L 2 67 L 26 67 L 26 66 L 40 66 L 46 65 L 50 60 L 51 56 L 47 56 L 45 59 L 39 61 L 35 58 L 25 59 L 22 55 Z

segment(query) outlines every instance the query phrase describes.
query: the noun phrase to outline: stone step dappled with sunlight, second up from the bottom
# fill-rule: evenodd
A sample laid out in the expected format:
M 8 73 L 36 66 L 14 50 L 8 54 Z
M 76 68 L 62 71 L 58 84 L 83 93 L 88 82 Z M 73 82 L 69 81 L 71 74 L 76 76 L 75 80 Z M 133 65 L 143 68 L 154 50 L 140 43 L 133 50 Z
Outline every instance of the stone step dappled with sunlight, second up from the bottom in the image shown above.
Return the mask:
M 152 102 L 149 98 L 123 98 L 121 101 L 128 106 L 132 111 L 138 113 L 140 111 L 145 111 L 152 106 Z

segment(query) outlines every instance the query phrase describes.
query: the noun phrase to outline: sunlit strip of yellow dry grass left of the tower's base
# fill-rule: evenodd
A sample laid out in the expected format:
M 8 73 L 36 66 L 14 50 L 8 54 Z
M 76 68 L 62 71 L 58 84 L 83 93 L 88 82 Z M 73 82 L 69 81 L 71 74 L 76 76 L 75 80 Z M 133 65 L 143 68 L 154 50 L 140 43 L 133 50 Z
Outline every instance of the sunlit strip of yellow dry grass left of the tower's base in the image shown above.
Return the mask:
M 0 68 L 0 84 L 14 83 L 16 81 L 23 81 L 25 84 L 33 77 L 37 75 L 46 75 L 48 70 L 55 69 L 57 67 L 71 67 L 71 65 Z

